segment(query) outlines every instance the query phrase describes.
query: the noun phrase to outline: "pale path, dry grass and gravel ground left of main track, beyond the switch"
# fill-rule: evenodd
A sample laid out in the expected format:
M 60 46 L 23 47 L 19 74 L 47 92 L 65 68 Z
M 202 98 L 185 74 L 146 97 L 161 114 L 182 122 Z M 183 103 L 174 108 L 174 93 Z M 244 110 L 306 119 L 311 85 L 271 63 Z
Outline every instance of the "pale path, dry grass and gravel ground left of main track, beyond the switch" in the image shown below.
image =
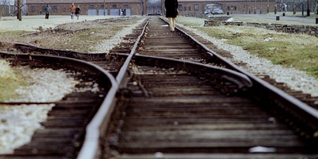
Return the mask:
M 32 44 L 47 49 L 72 50 L 78 52 L 107 52 L 113 43 L 130 33 L 139 16 L 80 16 L 79 20 L 72 20 L 69 16 L 53 16 L 49 19 L 41 16 L 27 16 L 29 19 L 1 20 L 0 50 L 10 51 L 12 43 Z M 4 23 L 7 23 L 6 25 Z M 20 25 L 23 24 L 23 25 Z M 19 24 L 19 25 L 18 25 Z M 34 34 L 41 29 L 52 30 Z M 128 30 L 127 30 L 128 29 Z M 26 32 L 21 32 L 25 30 Z M 16 33 L 14 33 L 16 31 Z M 33 34 L 30 34 L 30 33 Z M 12 51 L 10 51 L 12 52 Z M 18 52 L 15 52 L 18 53 Z

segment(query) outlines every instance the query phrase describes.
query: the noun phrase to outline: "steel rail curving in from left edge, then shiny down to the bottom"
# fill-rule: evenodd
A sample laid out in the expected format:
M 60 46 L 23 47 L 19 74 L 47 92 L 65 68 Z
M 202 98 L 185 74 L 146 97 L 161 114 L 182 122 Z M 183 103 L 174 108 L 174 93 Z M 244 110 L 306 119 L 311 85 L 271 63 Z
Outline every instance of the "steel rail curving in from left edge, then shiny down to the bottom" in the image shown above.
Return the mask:
M 11 56 L 19 57 L 24 60 L 42 60 L 42 61 L 52 61 L 54 59 L 58 62 L 63 62 L 64 64 L 69 64 L 71 66 L 76 66 L 81 68 L 83 71 L 90 73 L 96 73 L 103 76 L 103 80 L 108 80 L 111 87 L 105 96 L 100 108 L 96 112 L 96 115 L 92 118 L 91 122 L 86 126 L 85 139 L 83 145 L 80 149 L 78 159 L 94 159 L 98 151 L 99 144 L 99 130 L 101 129 L 103 122 L 107 122 L 108 117 L 110 116 L 115 102 L 115 94 L 118 90 L 118 83 L 116 79 L 108 73 L 106 70 L 102 69 L 98 65 L 85 62 L 82 60 L 67 58 L 67 57 L 56 57 L 56 56 L 47 56 L 47 55 L 28 55 L 28 54 L 10 54 L 0 52 L 0 56 Z M 105 81 L 107 82 L 107 81 Z M 104 124 L 105 125 L 105 124 Z

